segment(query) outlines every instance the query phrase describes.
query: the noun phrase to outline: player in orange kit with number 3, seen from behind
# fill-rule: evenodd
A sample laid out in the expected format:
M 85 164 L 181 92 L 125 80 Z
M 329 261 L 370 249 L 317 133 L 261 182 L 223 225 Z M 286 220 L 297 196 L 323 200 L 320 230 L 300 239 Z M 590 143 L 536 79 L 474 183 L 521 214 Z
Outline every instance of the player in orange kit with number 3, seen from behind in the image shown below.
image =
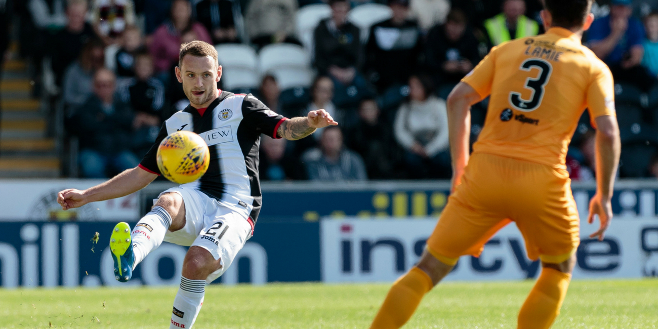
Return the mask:
M 372 329 L 399 328 L 423 295 L 462 255 L 480 255 L 497 230 L 515 222 L 530 259 L 543 270 L 519 313 L 519 329 L 549 328 L 559 314 L 580 241 L 565 166 L 578 119 L 588 108 L 596 132 L 597 190 L 588 222 L 612 217 L 619 163 L 613 78 L 580 43 L 594 20 L 593 0 L 545 0 L 542 36 L 498 47 L 448 97 L 453 194 L 419 263 L 393 284 Z M 468 155 L 470 105 L 490 96 L 484 129 Z

